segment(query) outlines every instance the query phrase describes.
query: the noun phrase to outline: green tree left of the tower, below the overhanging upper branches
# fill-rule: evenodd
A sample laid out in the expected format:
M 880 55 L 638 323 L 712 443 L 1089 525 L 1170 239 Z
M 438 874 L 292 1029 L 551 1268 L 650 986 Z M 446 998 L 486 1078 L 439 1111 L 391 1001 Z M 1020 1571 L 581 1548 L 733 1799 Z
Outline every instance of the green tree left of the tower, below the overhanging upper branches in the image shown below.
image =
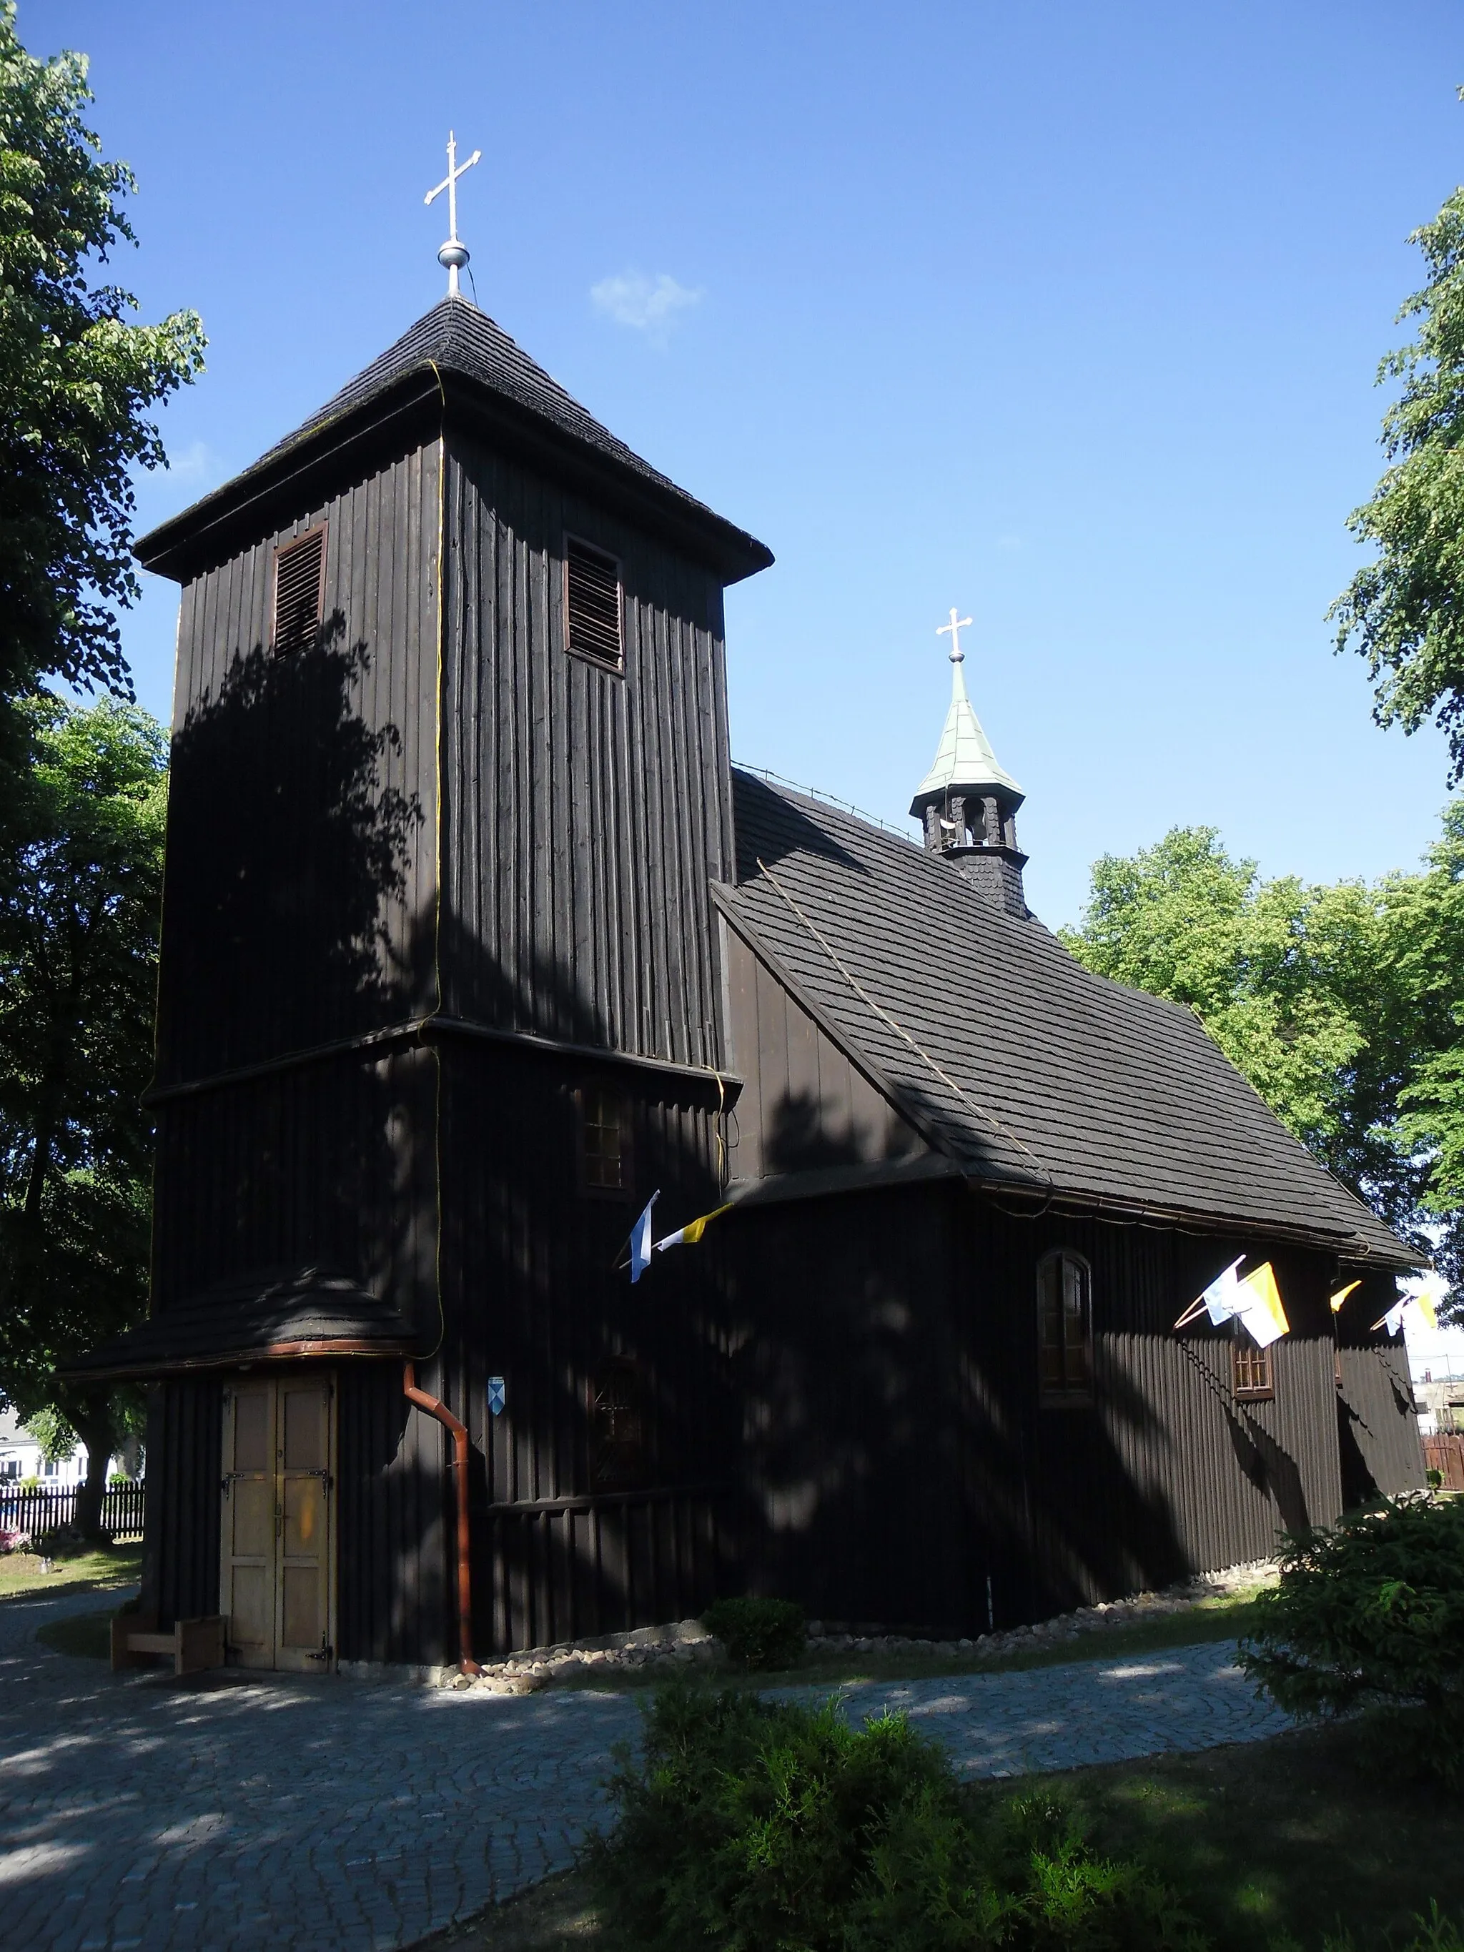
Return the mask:
M 166 740 L 139 707 L 18 707 L 31 763 L 0 861 L 0 1394 L 88 1448 L 100 1523 L 135 1405 L 57 1376 L 146 1312 Z

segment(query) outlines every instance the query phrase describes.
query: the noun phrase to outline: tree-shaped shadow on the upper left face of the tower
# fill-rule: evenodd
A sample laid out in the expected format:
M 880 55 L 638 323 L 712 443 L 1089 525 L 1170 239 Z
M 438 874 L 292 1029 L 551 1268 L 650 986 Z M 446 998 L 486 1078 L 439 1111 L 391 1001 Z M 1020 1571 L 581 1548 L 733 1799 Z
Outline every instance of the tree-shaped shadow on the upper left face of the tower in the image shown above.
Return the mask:
M 174 736 L 160 1081 L 431 1005 L 427 810 L 373 679 L 336 613 L 308 652 L 236 652 Z

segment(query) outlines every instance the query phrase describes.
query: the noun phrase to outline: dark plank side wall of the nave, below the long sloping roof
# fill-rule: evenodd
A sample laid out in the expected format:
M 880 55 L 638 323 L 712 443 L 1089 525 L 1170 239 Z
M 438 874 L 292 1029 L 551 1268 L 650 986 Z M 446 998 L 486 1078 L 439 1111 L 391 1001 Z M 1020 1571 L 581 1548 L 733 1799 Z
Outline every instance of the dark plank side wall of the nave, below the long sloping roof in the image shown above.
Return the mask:
M 1093 1269 L 1085 1407 L 1037 1390 L 1050 1247 Z M 1271 1402 L 1236 1400 L 1230 1331 L 1173 1333 L 1243 1249 L 1273 1259 L 1292 1322 Z M 1019 1220 L 949 1187 L 744 1208 L 724 1251 L 746 1566 L 820 1616 L 982 1632 L 988 1577 L 1011 1624 L 1265 1558 L 1341 1511 L 1323 1255 Z M 1402 1487 L 1392 1462 L 1380 1485 Z

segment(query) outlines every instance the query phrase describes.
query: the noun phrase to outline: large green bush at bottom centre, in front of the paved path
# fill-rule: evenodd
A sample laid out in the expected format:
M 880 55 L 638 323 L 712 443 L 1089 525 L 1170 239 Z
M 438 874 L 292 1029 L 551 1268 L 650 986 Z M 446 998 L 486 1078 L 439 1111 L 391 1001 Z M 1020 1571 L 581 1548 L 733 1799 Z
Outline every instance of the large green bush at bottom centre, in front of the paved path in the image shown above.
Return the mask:
M 740 1692 L 662 1690 L 619 1823 L 586 1862 L 613 1942 L 636 1952 L 1179 1952 L 1200 1948 L 1148 1872 L 1095 1856 L 1068 1810 L 968 1813 L 904 1718 L 853 1731 Z

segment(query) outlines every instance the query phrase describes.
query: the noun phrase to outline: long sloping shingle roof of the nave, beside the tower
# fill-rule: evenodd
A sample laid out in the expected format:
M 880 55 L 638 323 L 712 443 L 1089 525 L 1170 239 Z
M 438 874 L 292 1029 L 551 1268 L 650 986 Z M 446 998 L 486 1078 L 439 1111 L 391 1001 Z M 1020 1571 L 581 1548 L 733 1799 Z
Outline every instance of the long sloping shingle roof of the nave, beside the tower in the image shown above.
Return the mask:
M 1093 976 L 943 859 L 734 771 L 728 917 L 980 1179 L 1417 1255 L 1177 1003 Z

